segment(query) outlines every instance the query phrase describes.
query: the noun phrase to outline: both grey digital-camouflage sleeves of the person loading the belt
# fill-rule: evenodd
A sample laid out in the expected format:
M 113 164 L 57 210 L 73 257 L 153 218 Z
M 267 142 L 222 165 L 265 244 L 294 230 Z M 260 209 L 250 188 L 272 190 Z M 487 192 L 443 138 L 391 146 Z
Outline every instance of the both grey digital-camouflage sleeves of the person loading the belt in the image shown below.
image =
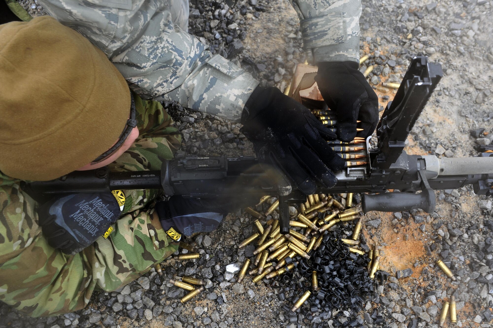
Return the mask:
M 186 0 L 39 0 L 44 9 L 102 49 L 143 98 L 239 122 L 258 85 L 250 74 L 174 23 Z M 360 0 L 290 0 L 305 48 L 320 61 L 358 61 Z M 179 20 L 179 19 L 178 19 Z

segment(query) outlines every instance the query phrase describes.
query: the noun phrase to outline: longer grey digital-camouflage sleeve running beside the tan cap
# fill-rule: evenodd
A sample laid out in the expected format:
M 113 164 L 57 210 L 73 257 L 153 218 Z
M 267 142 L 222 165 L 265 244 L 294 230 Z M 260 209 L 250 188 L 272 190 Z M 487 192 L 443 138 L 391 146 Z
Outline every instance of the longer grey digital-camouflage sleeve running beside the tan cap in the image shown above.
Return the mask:
M 49 15 L 102 49 L 143 98 L 239 122 L 258 85 L 173 24 L 169 1 L 39 0 Z

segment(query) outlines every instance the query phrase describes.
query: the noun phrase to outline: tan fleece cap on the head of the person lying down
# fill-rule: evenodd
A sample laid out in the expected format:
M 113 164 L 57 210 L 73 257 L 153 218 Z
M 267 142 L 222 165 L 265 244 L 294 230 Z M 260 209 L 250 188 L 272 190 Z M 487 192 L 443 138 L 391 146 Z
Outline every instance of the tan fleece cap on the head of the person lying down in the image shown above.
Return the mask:
M 108 150 L 130 115 L 127 82 L 106 55 L 49 16 L 0 25 L 0 171 L 65 175 Z

